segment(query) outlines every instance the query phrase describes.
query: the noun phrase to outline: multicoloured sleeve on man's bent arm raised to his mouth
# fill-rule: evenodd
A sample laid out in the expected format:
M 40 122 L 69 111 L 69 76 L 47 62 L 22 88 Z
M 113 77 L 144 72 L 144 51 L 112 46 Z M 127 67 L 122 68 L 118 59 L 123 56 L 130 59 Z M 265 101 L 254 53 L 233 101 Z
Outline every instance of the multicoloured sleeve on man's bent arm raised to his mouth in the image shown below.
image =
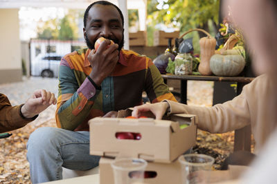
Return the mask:
M 55 119 L 57 127 L 74 130 L 87 118 L 93 101 L 100 93 L 89 79 L 79 86 L 72 65 L 62 59 L 59 69 L 59 92 Z

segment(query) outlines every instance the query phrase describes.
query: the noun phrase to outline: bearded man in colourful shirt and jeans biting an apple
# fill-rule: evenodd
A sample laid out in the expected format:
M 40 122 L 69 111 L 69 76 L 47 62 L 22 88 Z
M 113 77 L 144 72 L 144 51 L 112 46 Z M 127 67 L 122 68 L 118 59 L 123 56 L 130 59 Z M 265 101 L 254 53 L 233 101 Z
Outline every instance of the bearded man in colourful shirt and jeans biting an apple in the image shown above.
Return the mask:
M 62 179 L 62 167 L 89 170 L 98 166 L 100 157 L 89 155 L 89 119 L 141 105 L 143 91 L 151 103 L 176 101 L 148 57 L 122 49 L 123 25 L 122 12 L 107 1 L 92 3 L 84 13 L 88 48 L 67 54 L 60 63 L 55 114 L 60 128 L 41 127 L 28 141 L 33 183 Z

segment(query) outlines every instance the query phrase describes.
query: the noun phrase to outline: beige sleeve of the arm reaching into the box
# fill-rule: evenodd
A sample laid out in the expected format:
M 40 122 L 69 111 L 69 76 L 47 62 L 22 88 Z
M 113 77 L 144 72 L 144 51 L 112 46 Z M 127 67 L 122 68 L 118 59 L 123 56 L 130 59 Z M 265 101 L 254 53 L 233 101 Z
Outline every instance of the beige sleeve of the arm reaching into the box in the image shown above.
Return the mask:
M 249 106 L 246 98 L 247 88 L 245 87 L 242 94 L 236 96 L 232 101 L 217 104 L 211 108 L 167 101 L 170 105 L 170 114 L 195 114 L 198 117 L 197 127 L 211 133 L 237 130 L 250 124 Z

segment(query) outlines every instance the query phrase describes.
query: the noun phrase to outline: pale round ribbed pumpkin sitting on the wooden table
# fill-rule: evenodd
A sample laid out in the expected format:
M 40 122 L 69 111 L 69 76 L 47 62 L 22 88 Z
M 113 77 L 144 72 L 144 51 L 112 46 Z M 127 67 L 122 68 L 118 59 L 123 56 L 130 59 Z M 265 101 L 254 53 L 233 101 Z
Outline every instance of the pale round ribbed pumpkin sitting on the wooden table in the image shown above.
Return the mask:
M 244 57 L 239 54 L 214 54 L 211 57 L 210 68 L 216 76 L 237 76 L 245 66 Z

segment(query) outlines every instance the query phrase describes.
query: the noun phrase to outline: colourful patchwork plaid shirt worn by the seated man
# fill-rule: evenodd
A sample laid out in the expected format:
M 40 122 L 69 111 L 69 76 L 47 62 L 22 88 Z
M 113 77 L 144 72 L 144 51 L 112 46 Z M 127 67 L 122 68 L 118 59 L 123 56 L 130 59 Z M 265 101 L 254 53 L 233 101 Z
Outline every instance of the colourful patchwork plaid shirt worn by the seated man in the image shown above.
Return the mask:
M 130 50 L 120 50 L 116 68 L 102 81 L 101 90 L 96 89 L 88 78 L 89 52 L 76 50 L 62 58 L 55 113 L 58 127 L 89 131 L 89 119 L 141 105 L 143 91 L 151 103 L 176 101 L 151 59 Z

